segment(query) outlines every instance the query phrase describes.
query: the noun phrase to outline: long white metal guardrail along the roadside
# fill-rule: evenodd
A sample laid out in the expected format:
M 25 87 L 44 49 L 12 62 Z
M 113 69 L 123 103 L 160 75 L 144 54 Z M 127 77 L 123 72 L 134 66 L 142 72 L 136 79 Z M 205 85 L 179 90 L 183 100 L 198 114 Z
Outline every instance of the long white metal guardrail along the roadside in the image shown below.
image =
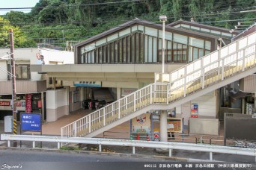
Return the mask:
M 210 159 L 213 160 L 213 153 L 222 154 L 239 154 L 255 157 L 256 163 L 256 149 L 255 148 L 236 148 L 230 146 L 220 145 L 204 145 L 182 142 L 154 142 L 154 141 L 141 141 L 141 140 L 128 140 L 128 139 L 102 139 L 102 138 L 85 138 L 85 137 L 64 137 L 64 136 L 36 136 L 36 135 L 12 135 L 1 134 L 1 140 L 7 141 L 7 146 L 10 147 L 10 141 L 31 141 L 33 148 L 35 142 L 57 142 L 58 149 L 61 147 L 61 142 L 68 143 L 82 143 L 99 145 L 99 151 L 102 151 L 102 145 L 117 145 L 117 146 L 131 146 L 132 154 L 135 154 L 135 147 L 144 148 L 162 148 L 168 149 L 169 157 L 171 157 L 172 149 L 186 150 L 186 151 L 203 151 L 209 152 Z

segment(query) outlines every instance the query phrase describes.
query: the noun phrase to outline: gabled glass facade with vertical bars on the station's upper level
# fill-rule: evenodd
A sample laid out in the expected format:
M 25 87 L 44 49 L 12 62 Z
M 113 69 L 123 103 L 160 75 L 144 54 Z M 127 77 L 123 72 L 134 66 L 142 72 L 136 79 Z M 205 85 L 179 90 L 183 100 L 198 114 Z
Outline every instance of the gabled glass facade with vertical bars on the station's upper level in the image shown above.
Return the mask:
M 210 53 L 211 42 L 165 31 L 165 63 L 189 63 Z M 136 25 L 79 47 L 79 64 L 162 63 L 162 30 Z

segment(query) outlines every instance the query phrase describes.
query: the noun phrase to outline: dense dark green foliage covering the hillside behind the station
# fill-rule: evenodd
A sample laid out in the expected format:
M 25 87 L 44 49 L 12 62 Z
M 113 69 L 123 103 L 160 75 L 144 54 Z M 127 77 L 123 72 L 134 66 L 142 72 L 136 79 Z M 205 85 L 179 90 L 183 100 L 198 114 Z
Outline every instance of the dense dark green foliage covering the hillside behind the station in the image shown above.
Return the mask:
M 196 22 L 234 28 L 236 19 L 255 21 L 254 12 L 240 13 L 255 10 L 255 5 L 255 0 L 40 0 L 30 13 L 7 13 L 4 21 L 10 23 L 1 22 L 0 31 L 12 25 L 28 42 L 64 45 L 66 40 L 85 40 L 135 17 L 159 22 L 159 15 L 166 15 L 168 23 L 193 17 Z M 1 46 L 2 40 L 1 36 Z

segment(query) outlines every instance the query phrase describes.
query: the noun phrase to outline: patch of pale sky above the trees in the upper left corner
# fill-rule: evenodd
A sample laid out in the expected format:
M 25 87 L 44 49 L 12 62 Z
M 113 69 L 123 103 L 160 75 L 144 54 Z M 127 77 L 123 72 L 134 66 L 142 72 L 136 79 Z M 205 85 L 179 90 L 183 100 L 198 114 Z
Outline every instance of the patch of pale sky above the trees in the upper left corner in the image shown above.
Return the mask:
M 34 7 L 39 0 L 0 0 L 0 15 L 4 15 L 10 10 L 3 10 L 1 8 L 10 8 L 10 7 Z M 18 10 L 24 13 L 30 12 L 30 10 Z

